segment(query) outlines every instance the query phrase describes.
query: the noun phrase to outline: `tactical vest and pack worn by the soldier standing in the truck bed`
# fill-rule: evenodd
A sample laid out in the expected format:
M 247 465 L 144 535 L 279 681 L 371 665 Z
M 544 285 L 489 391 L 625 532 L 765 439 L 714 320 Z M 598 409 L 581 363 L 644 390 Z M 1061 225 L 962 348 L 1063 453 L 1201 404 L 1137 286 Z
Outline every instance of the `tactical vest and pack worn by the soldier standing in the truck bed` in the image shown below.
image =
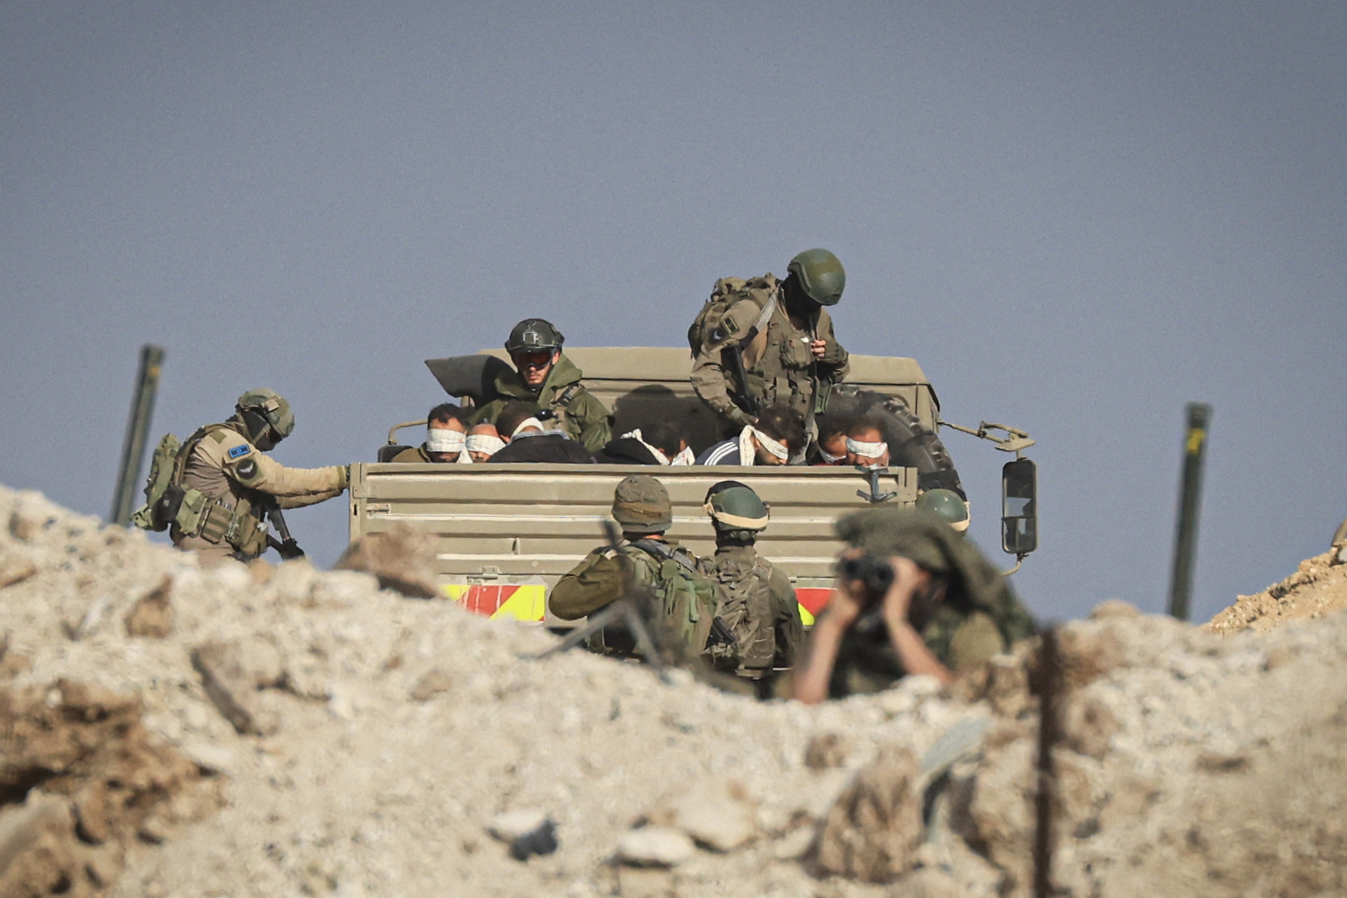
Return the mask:
M 730 314 L 735 303 L 741 303 L 741 307 Z M 738 321 L 741 317 L 744 321 Z M 749 280 L 721 278 L 711 290 L 711 298 L 688 328 L 687 340 L 694 357 L 706 349 L 714 351 L 722 342 L 742 342 L 745 351 L 750 345 L 765 344 L 760 357 L 745 357 L 744 373 L 748 383 L 733 383 L 733 390 L 756 396 L 764 407 L 788 405 L 808 422 L 823 410 L 831 387 L 831 380 L 819 372 L 818 360 L 808 344 L 819 333 L 826 333 L 827 326 L 828 313 L 820 307 L 814 330 L 797 332 L 785 310 L 780 282 L 773 275 Z M 721 369 L 726 383 L 731 383 L 733 368 L 722 363 Z

